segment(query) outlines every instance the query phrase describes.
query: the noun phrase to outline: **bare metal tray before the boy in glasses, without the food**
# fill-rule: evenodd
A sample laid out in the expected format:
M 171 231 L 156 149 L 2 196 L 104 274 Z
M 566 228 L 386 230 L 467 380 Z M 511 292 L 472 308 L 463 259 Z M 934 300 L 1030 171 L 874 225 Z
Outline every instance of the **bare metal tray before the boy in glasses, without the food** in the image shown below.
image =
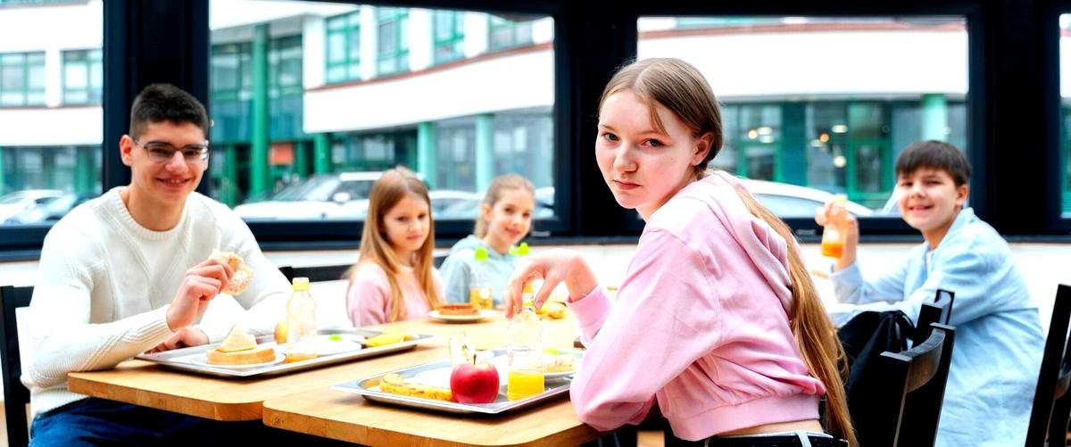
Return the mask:
M 379 330 L 368 330 L 356 327 L 322 328 L 319 329 L 318 333 L 321 336 L 350 335 L 364 338 L 371 338 L 382 334 L 382 332 Z M 172 369 L 191 371 L 206 375 L 214 375 L 217 377 L 260 377 L 260 376 L 270 376 L 277 374 L 286 374 L 295 371 L 319 368 L 342 361 L 391 354 L 401 351 L 408 351 L 413 348 L 417 348 L 417 344 L 419 344 L 424 340 L 427 340 L 428 338 L 432 338 L 432 336 L 418 334 L 418 335 L 407 335 L 406 338 L 407 340 L 404 340 L 402 342 L 387 344 L 382 346 L 366 348 L 364 346 L 363 343 L 361 343 L 360 344 L 361 348 L 359 349 L 336 352 L 328 355 L 321 355 L 319 357 L 311 358 L 307 360 L 295 361 L 292 364 L 280 363 L 274 365 L 267 365 L 267 366 L 252 367 L 252 368 L 213 367 L 211 365 L 205 365 L 194 361 L 195 358 L 202 358 L 206 352 L 215 349 L 215 346 L 220 345 L 220 343 L 210 343 L 210 344 L 202 344 L 199 346 L 182 348 L 178 350 L 165 351 L 154 354 L 141 354 L 134 358 L 156 363 Z M 357 344 L 353 341 L 349 342 Z M 262 345 L 262 344 L 275 345 L 274 337 L 271 335 L 257 337 L 257 345 Z M 278 348 L 276 348 L 276 354 L 278 352 L 280 352 Z

